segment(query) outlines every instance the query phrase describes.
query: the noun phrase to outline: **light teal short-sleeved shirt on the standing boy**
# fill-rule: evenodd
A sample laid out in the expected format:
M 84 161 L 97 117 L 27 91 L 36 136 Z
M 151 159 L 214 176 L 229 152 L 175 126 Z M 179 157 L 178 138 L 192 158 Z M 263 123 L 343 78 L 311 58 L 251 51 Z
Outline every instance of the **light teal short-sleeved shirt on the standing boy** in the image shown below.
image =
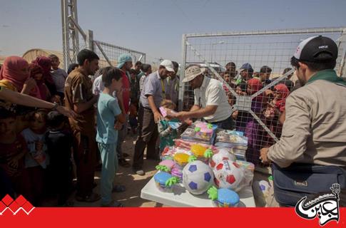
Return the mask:
M 104 144 L 116 143 L 118 130 L 114 129 L 116 115 L 121 114 L 118 100 L 106 93 L 100 93 L 97 103 L 96 142 Z

